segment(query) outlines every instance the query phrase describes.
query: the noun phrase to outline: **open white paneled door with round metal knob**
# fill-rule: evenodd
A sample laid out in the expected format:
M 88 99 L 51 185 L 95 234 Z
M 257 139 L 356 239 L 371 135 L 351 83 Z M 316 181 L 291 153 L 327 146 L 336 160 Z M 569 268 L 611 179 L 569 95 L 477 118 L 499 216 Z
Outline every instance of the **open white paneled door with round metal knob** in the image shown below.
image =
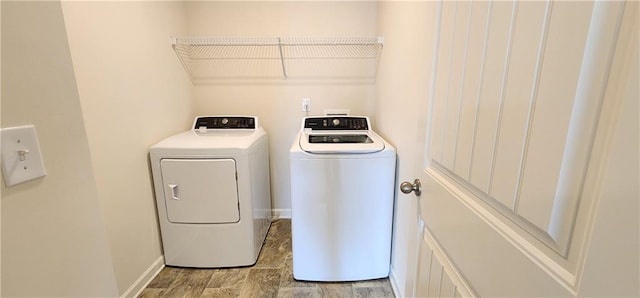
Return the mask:
M 438 5 L 427 143 L 416 157 L 425 159 L 417 296 L 580 294 L 620 145 L 612 135 L 637 123 L 618 117 L 637 109 L 637 10 Z M 637 179 L 637 164 L 626 171 Z

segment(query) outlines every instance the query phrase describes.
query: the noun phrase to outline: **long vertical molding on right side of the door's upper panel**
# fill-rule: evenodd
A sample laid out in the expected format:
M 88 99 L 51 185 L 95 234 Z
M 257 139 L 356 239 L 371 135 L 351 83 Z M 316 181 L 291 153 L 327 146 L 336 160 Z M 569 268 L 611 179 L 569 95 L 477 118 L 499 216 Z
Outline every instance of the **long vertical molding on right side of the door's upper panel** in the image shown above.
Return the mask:
M 573 107 L 572 120 L 568 127 L 567 148 L 562 156 L 556 200 L 552 208 L 548 232 L 569 253 L 574 222 L 566 213 L 578 212 L 581 199 L 589 196 L 585 192 L 587 184 L 592 183 L 588 177 L 601 163 L 600 156 L 604 150 L 598 150 L 598 143 L 606 142 L 598 133 L 608 130 L 612 119 L 602 117 L 603 110 L 612 103 L 605 102 L 605 92 L 609 83 L 609 75 L 613 67 L 616 42 L 622 25 L 624 4 L 605 5 L 596 3 L 591 19 L 592 30 L 588 36 L 588 47 L 584 53 L 583 63 L 576 97 L 580 101 Z M 609 32 L 603 34 L 602 32 Z M 585 202 L 588 203 L 588 202 Z

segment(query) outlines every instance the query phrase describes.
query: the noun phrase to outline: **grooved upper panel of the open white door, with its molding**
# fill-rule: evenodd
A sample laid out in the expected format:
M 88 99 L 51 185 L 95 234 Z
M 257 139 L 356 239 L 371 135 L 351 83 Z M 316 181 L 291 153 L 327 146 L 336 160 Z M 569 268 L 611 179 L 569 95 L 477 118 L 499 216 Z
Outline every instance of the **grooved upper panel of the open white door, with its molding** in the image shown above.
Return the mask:
M 475 5 L 442 5 L 430 161 L 567 259 L 624 5 Z

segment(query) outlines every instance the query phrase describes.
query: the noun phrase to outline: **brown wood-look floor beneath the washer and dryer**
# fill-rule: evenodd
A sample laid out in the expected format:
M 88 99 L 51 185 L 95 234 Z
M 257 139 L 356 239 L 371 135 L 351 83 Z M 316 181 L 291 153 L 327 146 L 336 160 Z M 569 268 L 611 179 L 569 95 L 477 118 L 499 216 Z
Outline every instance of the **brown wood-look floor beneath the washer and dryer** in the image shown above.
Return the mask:
M 388 278 L 360 282 L 293 279 L 291 221 L 271 224 L 258 261 L 250 267 L 165 267 L 140 297 L 394 297 Z

